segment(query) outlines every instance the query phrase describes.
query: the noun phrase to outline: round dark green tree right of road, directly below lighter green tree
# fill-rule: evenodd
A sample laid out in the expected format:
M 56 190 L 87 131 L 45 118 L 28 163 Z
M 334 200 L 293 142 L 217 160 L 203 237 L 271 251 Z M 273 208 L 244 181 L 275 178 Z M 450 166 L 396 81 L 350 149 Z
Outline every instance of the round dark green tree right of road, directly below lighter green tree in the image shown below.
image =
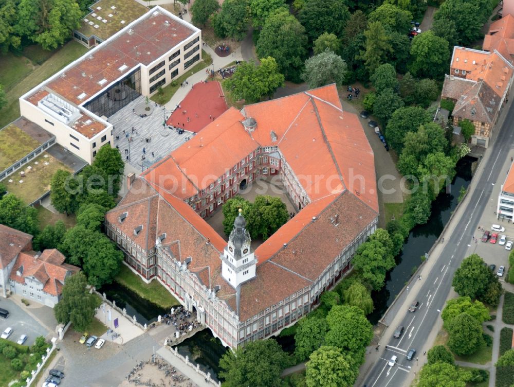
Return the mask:
M 457 355 L 471 355 L 485 345 L 482 324 L 468 313 L 461 313 L 447 324 L 448 347 Z

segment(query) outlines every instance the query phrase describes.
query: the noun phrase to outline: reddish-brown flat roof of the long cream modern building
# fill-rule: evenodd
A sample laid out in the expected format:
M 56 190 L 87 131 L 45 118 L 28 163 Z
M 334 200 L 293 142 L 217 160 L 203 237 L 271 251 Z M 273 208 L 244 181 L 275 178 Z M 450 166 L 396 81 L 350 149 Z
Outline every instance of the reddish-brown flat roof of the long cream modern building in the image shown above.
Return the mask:
M 138 65 L 148 66 L 199 31 L 192 24 L 156 6 L 22 98 L 38 105 L 51 93 L 71 104 L 83 105 Z M 81 122 L 70 127 L 87 138 L 106 128 L 100 117 L 84 108 L 79 110 Z

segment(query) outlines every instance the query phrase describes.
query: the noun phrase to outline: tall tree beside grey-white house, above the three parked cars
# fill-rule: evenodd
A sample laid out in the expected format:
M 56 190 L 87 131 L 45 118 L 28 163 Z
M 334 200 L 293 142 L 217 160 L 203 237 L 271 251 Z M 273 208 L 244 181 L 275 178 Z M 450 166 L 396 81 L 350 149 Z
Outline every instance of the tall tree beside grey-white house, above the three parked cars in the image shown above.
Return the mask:
M 86 289 L 86 276 L 78 272 L 66 278 L 61 300 L 53 308 L 56 320 L 60 324 L 71 321 L 76 331 L 84 331 L 93 321 L 97 298 Z

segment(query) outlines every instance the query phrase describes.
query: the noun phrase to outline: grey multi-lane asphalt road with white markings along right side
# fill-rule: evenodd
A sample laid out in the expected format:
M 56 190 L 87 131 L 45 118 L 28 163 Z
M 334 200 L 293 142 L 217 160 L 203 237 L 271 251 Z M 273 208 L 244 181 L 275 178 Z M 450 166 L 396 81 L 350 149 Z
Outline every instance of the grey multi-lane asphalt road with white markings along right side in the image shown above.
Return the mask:
M 497 128 L 500 131 L 492 149 L 488 150 L 490 152 L 488 159 L 480 166 L 483 168 L 483 173 L 474 190 L 469 192 L 471 197 L 464 211 L 460 212 L 461 219 L 457 219 L 457 226 L 446 234 L 442 253 L 438 257 L 430 258 L 436 259 L 436 262 L 429 275 L 423 277 L 423 285 L 416 287 L 418 289 L 416 298 L 420 303 L 418 310 L 411 313 L 408 311 L 409 305 L 403 305 L 401 310 L 405 310 L 405 316 L 401 325 L 405 327 L 405 332 L 402 337 L 400 339 L 382 338 L 380 360 L 375 363 L 363 383 L 367 387 L 402 386 L 408 373 L 411 372 L 411 366 L 416 360 L 408 361 L 407 352 L 411 348 L 424 347 L 440 311 L 444 308 L 451 290 L 453 273 L 468 254 L 468 241 L 478 230 L 479 221 L 489 201 L 497 200 L 491 197 L 491 193 L 493 185 L 497 182 L 501 184 L 505 178 L 504 176 L 499 178 L 499 173 L 501 166 L 509 157 L 508 153 L 514 139 L 514 132 L 509 128 L 510 122 L 514 122 L 514 109 L 507 112 L 501 128 Z M 384 344 L 387 344 L 388 349 Z M 398 360 L 395 366 L 390 367 L 388 361 L 393 355 L 398 356 Z M 417 353 L 416 356 L 423 356 L 423 354 Z

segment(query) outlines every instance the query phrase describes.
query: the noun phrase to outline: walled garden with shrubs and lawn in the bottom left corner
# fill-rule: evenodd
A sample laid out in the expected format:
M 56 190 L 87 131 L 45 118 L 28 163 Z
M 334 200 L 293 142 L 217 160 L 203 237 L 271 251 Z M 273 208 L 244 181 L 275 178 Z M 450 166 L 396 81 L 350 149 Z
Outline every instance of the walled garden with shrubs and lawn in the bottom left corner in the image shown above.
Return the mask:
M 40 336 L 31 347 L 0 339 L 0 385 L 19 387 L 26 385 L 30 372 L 36 369 L 50 345 Z M 20 380 L 12 383 L 12 381 Z

